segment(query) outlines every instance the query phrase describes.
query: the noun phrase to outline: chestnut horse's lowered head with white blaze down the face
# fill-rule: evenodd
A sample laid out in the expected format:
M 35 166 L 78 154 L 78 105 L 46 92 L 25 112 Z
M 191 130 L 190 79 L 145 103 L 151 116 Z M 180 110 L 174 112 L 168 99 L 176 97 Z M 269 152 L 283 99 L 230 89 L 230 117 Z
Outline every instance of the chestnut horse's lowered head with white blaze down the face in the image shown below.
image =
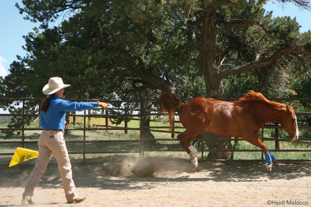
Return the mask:
M 298 139 L 298 125 L 294 111 L 295 107 L 296 106 L 294 106 L 293 108 L 286 106 L 285 114 L 282 115 L 278 120 L 279 124 L 281 124 L 281 127 L 290 136 L 291 141 L 295 141 L 296 139 Z

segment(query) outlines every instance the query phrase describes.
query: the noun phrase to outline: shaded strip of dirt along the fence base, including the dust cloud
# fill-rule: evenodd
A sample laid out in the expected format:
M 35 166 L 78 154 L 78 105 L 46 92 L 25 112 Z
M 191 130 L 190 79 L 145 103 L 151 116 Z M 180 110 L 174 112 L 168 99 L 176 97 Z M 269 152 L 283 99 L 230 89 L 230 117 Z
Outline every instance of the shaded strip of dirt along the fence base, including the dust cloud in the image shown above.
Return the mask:
M 34 164 L 1 166 L 1 187 L 24 187 Z M 269 179 L 295 179 L 311 176 L 309 164 L 280 164 L 267 171 L 263 163 L 229 165 L 200 162 L 194 171 L 187 159 L 125 157 L 96 162 L 73 162 L 73 179 L 77 187 L 130 190 L 150 189 L 152 183 L 167 182 L 260 182 Z M 148 182 L 149 184 L 143 184 Z M 150 184 L 151 183 L 151 184 Z M 49 163 L 39 182 L 42 188 L 62 187 L 57 163 Z

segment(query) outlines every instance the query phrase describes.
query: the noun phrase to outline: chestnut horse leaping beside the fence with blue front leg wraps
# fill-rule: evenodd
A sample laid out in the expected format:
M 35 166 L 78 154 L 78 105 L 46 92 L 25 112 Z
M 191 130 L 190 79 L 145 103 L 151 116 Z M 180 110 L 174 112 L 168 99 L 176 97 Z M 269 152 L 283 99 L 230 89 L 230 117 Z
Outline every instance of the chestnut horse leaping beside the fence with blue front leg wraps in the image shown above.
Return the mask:
M 259 137 L 259 130 L 268 122 L 277 122 L 289 134 L 290 140 L 298 139 L 295 107 L 269 101 L 261 93 L 249 91 L 237 101 L 219 101 L 196 97 L 182 103 L 173 94 L 163 92 L 156 101 L 160 109 L 168 114 L 172 127 L 175 110 L 179 110 L 180 123 L 186 128 L 177 136 L 180 145 L 190 155 L 192 168 L 197 167 L 197 149 L 191 141 L 203 131 L 225 137 L 241 137 L 258 146 L 264 152 L 266 168 L 278 162 Z

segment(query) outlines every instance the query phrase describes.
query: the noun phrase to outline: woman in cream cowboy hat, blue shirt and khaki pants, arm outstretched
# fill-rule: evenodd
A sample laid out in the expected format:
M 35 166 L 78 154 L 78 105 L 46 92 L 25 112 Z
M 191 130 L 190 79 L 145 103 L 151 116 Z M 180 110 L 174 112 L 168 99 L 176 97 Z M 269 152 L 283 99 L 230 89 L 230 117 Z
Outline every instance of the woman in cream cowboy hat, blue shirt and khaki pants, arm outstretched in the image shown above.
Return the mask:
M 67 203 L 79 203 L 86 199 L 86 196 L 78 196 L 72 180 L 71 164 L 63 137 L 66 112 L 83 111 L 98 106 L 106 110 L 109 105 L 99 101 L 78 103 L 60 99 L 63 96 L 64 88 L 69 86 L 64 84 L 61 78 L 52 77 L 42 89 L 48 97 L 42 101 L 40 107 L 40 126 L 43 131 L 38 141 L 39 156 L 26 183 L 21 201 L 23 205 L 31 203 L 34 188 L 42 177 L 52 153 L 61 173 Z

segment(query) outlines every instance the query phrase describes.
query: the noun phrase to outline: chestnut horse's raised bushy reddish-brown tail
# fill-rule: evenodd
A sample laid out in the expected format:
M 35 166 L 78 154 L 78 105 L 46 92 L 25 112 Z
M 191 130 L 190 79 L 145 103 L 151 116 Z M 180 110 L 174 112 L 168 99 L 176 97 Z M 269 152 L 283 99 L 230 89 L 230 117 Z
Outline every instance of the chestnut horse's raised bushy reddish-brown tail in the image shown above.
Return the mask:
M 169 119 L 169 127 L 173 128 L 175 110 L 179 111 L 182 102 L 173 94 L 162 92 L 161 97 L 156 101 L 155 105 L 159 106 L 161 111 L 166 112 Z

